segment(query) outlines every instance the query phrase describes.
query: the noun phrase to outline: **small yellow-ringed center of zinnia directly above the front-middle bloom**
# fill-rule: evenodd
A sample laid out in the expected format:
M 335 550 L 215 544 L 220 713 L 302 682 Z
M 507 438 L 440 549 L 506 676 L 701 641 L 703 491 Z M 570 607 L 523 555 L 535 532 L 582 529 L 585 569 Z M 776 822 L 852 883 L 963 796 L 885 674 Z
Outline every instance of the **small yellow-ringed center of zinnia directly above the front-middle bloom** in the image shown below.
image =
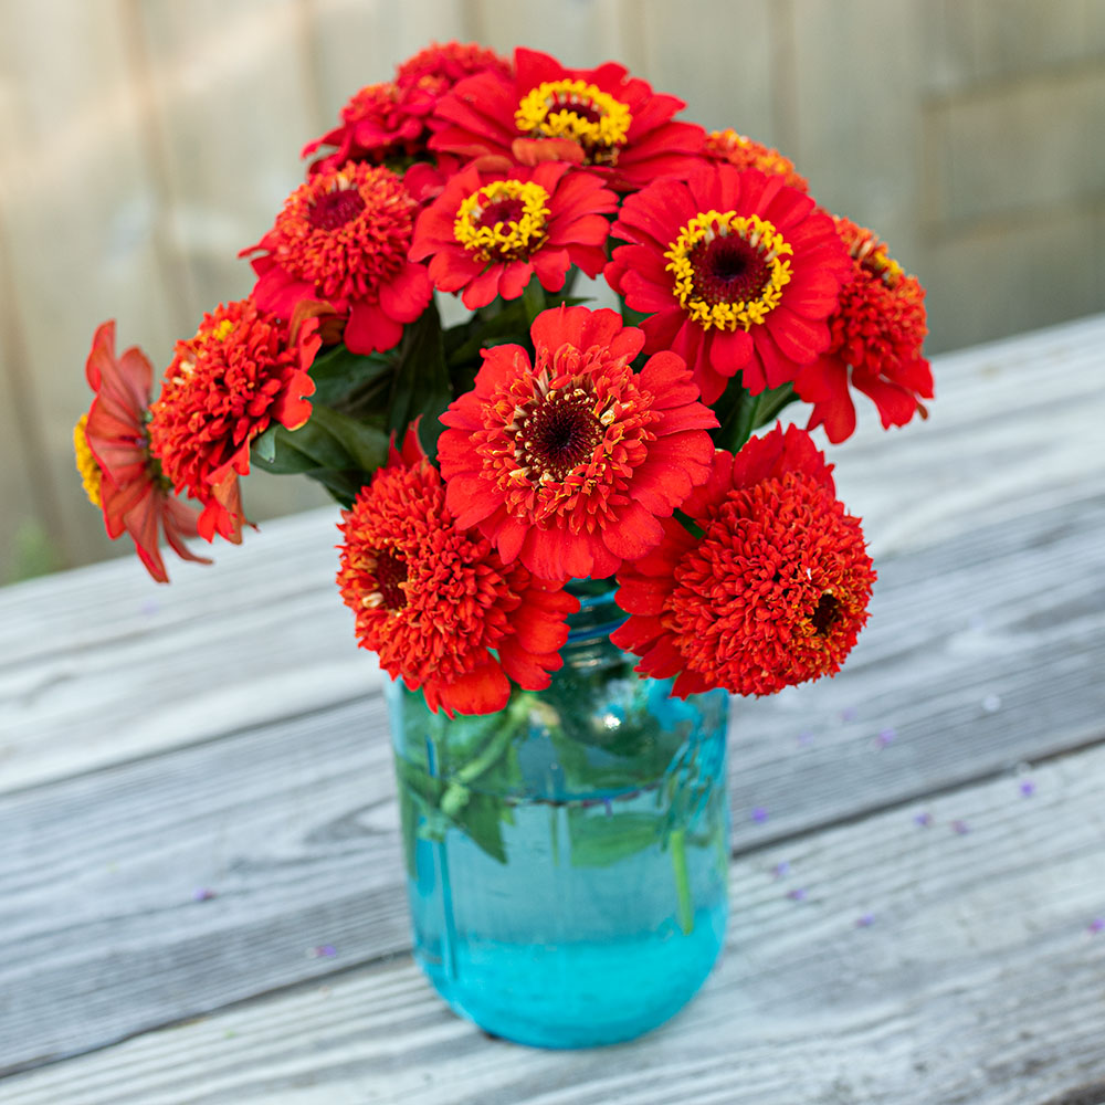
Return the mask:
M 528 257 L 545 242 L 548 203 L 532 180 L 494 180 L 461 203 L 453 234 L 481 261 Z

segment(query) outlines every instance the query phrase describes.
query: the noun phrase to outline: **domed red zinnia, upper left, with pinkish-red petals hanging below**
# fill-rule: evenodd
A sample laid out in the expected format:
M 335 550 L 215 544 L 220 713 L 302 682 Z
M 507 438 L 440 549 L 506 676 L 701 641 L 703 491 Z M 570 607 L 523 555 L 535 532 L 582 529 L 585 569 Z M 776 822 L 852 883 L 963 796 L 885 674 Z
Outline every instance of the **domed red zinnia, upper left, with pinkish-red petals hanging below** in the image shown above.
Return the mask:
M 348 315 L 345 344 L 369 354 L 398 345 L 433 286 L 407 260 L 418 204 L 390 169 L 346 165 L 319 172 L 287 199 L 276 224 L 242 255 L 253 267 L 257 306 L 291 318 L 301 299 L 325 299 Z

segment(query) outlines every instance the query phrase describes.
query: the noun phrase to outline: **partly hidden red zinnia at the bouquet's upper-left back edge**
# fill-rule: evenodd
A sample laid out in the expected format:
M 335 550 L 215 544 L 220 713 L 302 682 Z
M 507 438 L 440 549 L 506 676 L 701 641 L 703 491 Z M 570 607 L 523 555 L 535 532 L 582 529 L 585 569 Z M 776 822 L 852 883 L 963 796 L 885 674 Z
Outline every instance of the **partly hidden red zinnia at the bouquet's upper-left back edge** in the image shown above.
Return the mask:
M 303 157 L 322 146 L 337 147 L 313 161 L 308 171 L 339 169 L 346 161 L 379 165 L 423 154 L 439 101 L 459 81 L 484 70 L 508 76 L 511 63 L 475 43 L 434 43 L 420 51 L 399 66 L 394 81 L 359 90 L 341 108 L 338 126 L 304 146 Z

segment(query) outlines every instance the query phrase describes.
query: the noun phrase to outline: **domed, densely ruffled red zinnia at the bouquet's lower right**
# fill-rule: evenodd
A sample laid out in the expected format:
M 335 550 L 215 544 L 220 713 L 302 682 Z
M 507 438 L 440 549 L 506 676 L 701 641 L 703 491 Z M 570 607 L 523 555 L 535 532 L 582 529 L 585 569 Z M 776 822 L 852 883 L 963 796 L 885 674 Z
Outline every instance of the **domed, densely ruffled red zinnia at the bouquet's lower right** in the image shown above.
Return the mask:
M 630 618 L 610 640 L 641 656 L 639 672 L 677 674 L 686 697 L 774 694 L 840 671 L 875 573 L 830 471 L 796 427 L 717 453 L 682 507 L 702 536 L 665 520 L 662 545 L 618 573 Z

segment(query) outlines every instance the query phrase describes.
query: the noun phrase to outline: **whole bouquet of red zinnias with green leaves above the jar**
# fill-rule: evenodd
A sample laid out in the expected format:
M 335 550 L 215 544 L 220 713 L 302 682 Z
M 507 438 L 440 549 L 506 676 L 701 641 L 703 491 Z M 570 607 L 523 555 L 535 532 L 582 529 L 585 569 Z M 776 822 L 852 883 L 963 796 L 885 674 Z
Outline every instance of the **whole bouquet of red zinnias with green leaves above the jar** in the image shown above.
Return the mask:
M 360 644 L 450 714 L 548 685 L 572 580 L 617 581 L 614 644 L 676 695 L 838 671 L 874 572 L 810 431 L 848 438 L 856 392 L 925 414 L 924 291 L 683 106 L 457 43 L 362 88 L 156 398 L 97 330 L 75 440 L 108 534 L 166 581 L 162 540 L 242 539 L 251 466 L 317 480 Z

